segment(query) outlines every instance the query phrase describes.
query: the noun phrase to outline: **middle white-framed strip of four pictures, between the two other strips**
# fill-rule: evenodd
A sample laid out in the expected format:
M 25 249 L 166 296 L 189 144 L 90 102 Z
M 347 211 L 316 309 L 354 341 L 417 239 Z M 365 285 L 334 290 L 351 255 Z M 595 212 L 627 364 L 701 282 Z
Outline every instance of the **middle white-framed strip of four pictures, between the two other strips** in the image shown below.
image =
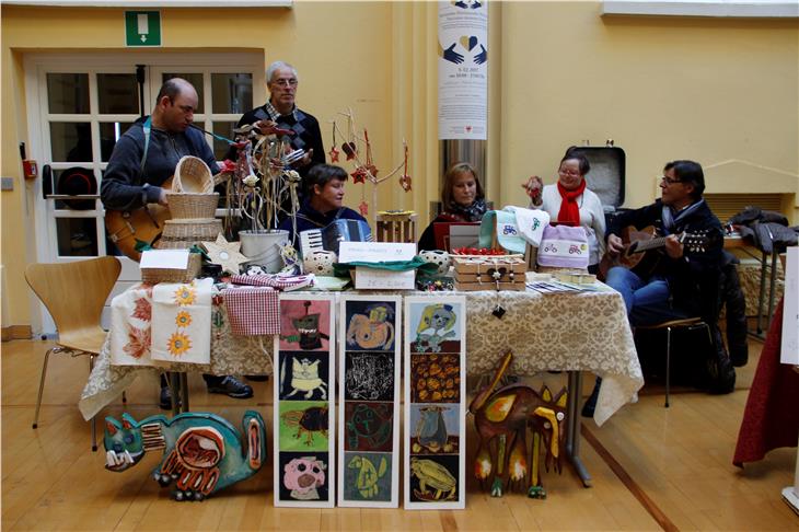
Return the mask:
M 399 296 L 343 296 L 338 506 L 399 505 Z

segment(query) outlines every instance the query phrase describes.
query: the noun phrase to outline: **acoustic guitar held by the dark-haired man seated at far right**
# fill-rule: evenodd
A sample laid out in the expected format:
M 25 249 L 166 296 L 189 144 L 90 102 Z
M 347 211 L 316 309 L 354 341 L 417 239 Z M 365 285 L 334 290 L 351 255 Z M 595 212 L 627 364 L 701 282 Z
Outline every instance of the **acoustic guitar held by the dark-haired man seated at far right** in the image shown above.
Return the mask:
M 707 233 L 707 231 L 684 232 L 678 234 L 676 238 L 685 250 L 699 253 L 708 243 Z M 604 254 L 599 265 L 599 278 L 604 280 L 613 266 L 624 266 L 640 277 L 650 276 L 663 256 L 660 248 L 665 246 L 665 236 L 658 236 L 657 230 L 651 225 L 642 230 L 633 225 L 625 228 L 622 231 L 624 251 L 615 257 L 611 256 L 609 252 Z

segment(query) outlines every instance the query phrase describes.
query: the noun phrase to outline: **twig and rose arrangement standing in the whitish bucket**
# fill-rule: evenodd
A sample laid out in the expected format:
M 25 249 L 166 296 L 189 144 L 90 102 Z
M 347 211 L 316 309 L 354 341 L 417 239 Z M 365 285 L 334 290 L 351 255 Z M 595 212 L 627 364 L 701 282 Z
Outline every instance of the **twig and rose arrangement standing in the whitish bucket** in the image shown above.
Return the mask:
M 297 188 L 300 174 L 289 169 L 286 154 L 291 151 L 286 135 L 262 135 L 254 126 L 235 131 L 239 151 L 228 184 L 228 212 L 238 208 L 254 231 L 277 229 L 280 213 L 291 216 L 299 208 Z M 282 132 L 282 130 L 280 130 Z M 289 200 L 289 209 L 285 203 Z

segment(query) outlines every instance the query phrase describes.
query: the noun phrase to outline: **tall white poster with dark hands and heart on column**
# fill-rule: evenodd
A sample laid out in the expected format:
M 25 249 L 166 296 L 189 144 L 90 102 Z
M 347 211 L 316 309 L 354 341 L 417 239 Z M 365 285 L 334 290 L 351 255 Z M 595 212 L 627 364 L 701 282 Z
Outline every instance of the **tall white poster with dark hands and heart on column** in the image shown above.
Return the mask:
M 486 139 L 488 9 L 480 0 L 439 2 L 439 140 Z

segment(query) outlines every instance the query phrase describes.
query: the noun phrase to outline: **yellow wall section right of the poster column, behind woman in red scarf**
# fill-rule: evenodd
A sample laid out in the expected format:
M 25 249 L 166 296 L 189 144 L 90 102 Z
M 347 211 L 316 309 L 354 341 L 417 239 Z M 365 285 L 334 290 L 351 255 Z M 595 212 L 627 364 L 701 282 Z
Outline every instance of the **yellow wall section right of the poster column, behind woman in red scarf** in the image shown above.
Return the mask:
M 797 193 L 797 27 L 601 18 L 599 2 L 503 3 L 501 204 L 520 200 L 516 183 L 528 175 L 553 183 L 568 146 L 609 138 L 627 154 L 626 206 L 650 201 L 673 159 L 768 166 Z M 764 192 L 762 177 L 710 172 L 707 192 Z

